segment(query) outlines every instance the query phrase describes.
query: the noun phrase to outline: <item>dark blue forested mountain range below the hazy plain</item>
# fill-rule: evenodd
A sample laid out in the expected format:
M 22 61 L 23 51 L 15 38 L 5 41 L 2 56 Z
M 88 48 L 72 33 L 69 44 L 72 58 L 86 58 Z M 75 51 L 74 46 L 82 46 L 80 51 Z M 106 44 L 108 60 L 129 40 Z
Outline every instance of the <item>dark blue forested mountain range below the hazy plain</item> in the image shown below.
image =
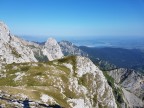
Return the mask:
M 91 58 L 99 58 L 121 68 L 144 66 L 144 52 L 139 49 L 123 48 L 96 48 L 81 46 L 81 50 L 88 53 Z

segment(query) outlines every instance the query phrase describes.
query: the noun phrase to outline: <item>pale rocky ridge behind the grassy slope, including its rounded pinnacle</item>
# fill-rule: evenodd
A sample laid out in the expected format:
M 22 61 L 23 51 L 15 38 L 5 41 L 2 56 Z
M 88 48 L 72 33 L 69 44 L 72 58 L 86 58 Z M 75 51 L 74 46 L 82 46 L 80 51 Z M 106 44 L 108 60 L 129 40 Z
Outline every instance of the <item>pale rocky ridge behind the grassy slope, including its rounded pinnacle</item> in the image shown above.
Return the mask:
M 3 22 L 0 22 L 0 61 L 1 63 L 37 62 L 39 59 L 51 61 L 63 57 L 60 46 L 53 38 L 45 45 L 25 41 L 12 35 Z

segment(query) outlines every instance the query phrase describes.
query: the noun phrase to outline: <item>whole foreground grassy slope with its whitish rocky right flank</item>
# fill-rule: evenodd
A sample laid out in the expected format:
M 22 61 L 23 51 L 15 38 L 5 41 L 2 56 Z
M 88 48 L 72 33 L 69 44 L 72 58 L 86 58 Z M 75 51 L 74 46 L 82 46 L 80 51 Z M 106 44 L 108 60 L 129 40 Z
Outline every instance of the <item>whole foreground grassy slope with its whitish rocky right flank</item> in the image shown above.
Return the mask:
M 27 97 L 34 102 L 29 102 L 31 106 L 42 103 L 66 108 L 117 107 L 102 71 L 85 57 L 14 63 L 3 66 L 0 74 L 1 91 L 17 100 Z M 22 106 L 9 102 L 6 105 Z

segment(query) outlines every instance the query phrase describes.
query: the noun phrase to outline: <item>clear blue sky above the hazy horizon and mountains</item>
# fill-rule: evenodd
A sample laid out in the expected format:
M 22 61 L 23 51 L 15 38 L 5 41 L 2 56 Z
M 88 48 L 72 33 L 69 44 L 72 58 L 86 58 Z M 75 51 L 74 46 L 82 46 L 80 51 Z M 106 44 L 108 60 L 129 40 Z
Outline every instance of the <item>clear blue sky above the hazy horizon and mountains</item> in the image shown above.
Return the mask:
M 15 35 L 143 36 L 144 0 L 0 0 Z

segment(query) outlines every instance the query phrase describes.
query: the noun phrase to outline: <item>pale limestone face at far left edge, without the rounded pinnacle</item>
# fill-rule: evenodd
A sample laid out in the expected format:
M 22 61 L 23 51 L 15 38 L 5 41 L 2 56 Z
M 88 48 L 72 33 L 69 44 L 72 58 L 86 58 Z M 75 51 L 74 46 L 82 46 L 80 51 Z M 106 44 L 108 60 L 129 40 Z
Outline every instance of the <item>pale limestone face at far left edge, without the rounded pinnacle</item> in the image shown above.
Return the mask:
M 37 62 L 32 50 L 0 22 L 0 63 Z

